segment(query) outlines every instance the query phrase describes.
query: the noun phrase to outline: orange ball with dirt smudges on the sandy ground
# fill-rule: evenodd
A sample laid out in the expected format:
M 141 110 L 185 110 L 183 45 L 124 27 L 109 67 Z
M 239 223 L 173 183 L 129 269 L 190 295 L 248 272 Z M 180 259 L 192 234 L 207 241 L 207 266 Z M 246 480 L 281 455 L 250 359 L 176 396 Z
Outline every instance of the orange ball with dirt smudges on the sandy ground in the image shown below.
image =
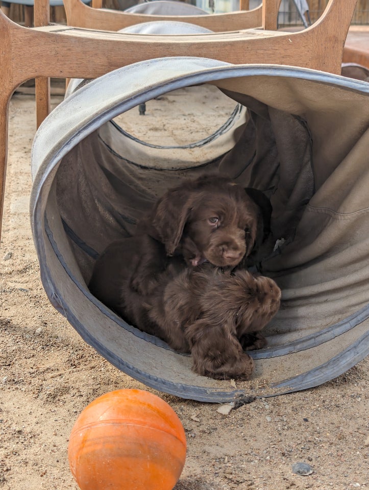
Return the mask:
M 82 490 L 171 490 L 186 458 L 176 412 L 140 389 L 111 391 L 90 403 L 69 438 L 71 472 Z

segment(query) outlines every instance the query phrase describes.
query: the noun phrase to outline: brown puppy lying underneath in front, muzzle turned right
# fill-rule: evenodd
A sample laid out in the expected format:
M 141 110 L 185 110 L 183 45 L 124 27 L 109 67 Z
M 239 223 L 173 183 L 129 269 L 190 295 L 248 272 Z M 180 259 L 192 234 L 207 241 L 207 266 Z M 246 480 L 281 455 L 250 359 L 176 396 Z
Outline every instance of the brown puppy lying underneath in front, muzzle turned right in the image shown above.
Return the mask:
M 186 269 L 163 281 L 143 308 L 160 337 L 190 352 L 193 371 L 216 379 L 247 379 L 254 370 L 243 350 L 266 345 L 259 333 L 277 313 L 281 290 L 243 269 Z

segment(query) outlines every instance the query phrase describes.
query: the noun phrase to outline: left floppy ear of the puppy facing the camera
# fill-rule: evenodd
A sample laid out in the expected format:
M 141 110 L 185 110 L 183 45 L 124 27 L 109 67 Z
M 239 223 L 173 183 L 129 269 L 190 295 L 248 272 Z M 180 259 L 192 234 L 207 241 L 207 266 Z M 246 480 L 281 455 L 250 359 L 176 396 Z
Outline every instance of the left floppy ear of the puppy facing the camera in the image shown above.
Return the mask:
M 173 255 L 179 245 L 191 212 L 191 203 L 191 193 L 187 189 L 177 188 L 167 191 L 152 212 L 151 226 L 168 255 Z

